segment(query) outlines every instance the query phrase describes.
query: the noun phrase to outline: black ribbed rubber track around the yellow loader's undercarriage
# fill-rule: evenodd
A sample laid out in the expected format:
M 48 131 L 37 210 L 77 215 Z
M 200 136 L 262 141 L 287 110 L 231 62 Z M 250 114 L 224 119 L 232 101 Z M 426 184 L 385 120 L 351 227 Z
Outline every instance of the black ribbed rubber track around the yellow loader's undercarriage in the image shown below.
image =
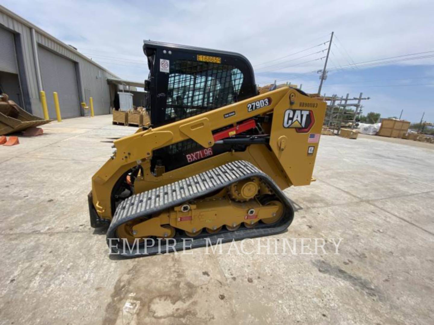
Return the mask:
M 227 241 L 240 240 L 243 238 L 266 236 L 270 234 L 278 234 L 285 231 L 291 224 L 294 217 L 294 209 L 291 202 L 286 195 L 280 190 L 276 183 L 268 175 L 263 173 L 256 166 L 253 166 L 250 162 L 244 160 L 238 160 L 235 162 L 228 162 L 225 165 L 210 169 L 206 172 L 193 175 L 180 181 L 163 185 L 158 188 L 153 188 L 149 191 L 142 192 L 136 195 L 132 195 L 125 199 L 115 211 L 110 227 L 107 231 L 107 244 L 110 247 L 110 238 L 112 239 L 112 252 L 118 253 L 122 257 L 137 257 L 141 255 L 151 255 L 158 252 L 165 253 L 167 251 L 173 251 L 171 245 L 173 240 L 169 240 L 169 245 L 166 247 L 165 240 L 161 240 L 160 248 L 158 247 L 158 240 L 155 240 L 155 245 L 152 247 L 139 247 L 139 253 L 136 248 L 132 250 L 124 251 L 122 240 L 118 239 L 116 229 L 125 222 L 132 221 L 135 218 L 144 217 L 149 214 L 158 213 L 164 209 L 181 205 L 187 201 L 201 198 L 207 194 L 216 190 L 222 189 L 230 183 L 240 181 L 242 179 L 257 176 L 278 196 L 278 198 L 285 205 L 285 214 L 283 218 L 273 225 L 258 224 L 256 227 L 248 229 L 243 225 L 236 231 L 223 230 L 217 234 L 208 234 L 203 232 L 202 234 L 193 237 L 193 240 L 187 240 L 186 244 L 191 248 L 201 247 L 206 245 L 205 238 L 209 238 L 212 244 L 216 244 L 217 240 L 221 238 L 222 243 Z M 179 230 L 177 230 L 179 231 Z M 177 251 L 182 250 L 183 242 L 182 238 L 190 238 L 187 235 L 177 235 L 174 237 L 177 244 L 174 249 Z M 141 240 L 143 243 L 143 240 Z M 208 243 L 209 244 L 209 243 Z M 115 246 L 114 246 L 115 245 Z

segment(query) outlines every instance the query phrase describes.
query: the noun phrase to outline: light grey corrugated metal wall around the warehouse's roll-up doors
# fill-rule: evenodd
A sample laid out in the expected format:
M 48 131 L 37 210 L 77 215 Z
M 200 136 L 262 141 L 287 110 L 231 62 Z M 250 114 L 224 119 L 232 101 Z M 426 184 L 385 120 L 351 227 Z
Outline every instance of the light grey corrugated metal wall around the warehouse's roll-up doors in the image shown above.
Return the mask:
M 3 10 L 3 11 L 2 11 Z M 36 65 L 33 57 L 33 45 L 31 37 L 31 27 L 19 20 L 14 19 L 7 14 L 7 10 L 0 6 L 0 24 L 13 33 L 20 33 L 22 43 L 22 55 L 26 69 L 26 82 L 28 84 L 30 103 L 32 105 L 33 114 L 43 117 L 42 107 L 39 101 L 39 88 L 36 77 Z M 109 114 L 110 113 L 110 96 L 109 85 L 107 78 L 117 78 L 109 71 L 100 68 L 95 63 L 87 60 L 74 52 L 69 46 L 65 46 L 60 42 L 43 35 L 43 33 L 36 32 L 36 42 L 59 55 L 65 56 L 74 61 L 78 65 L 77 78 L 79 79 L 79 100 L 86 101 L 89 104 L 89 97 L 93 97 L 95 114 Z M 19 53 L 17 53 L 19 55 Z M 25 81 L 21 81 L 25 82 Z M 46 94 L 47 97 L 52 97 L 53 94 Z

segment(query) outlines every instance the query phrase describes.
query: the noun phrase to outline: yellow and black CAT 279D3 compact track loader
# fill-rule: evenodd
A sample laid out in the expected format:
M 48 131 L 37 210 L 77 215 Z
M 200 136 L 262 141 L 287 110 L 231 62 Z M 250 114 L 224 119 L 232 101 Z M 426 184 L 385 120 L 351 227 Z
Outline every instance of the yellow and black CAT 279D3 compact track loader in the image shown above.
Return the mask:
M 325 102 L 288 87 L 259 94 L 238 53 L 143 50 L 151 126 L 115 140 L 92 177 L 91 226 L 109 225 L 126 257 L 284 231 L 294 210 L 282 191 L 312 181 Z

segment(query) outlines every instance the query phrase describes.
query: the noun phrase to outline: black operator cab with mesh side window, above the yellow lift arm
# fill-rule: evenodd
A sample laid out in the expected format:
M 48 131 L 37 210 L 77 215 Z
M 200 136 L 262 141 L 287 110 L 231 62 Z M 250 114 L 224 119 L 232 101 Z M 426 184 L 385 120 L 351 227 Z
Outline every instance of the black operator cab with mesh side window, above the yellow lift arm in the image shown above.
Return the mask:
M 257 94 L 252 65 L 241 54 L 153 41 L 144 41 L 143 51 L 152 127 Z

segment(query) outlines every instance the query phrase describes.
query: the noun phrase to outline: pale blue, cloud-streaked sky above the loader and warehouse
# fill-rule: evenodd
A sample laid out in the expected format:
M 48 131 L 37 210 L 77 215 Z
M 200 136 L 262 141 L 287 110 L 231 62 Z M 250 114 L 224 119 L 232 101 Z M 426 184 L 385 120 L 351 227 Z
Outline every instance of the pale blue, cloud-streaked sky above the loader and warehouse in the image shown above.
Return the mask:
M 424 120 L 434 122 L 434 57 L 354 65 L 434 51 L 432 0 L 3 0 L 2 5 L 135 81 L 147 77 L 141 46 L 152 39 L 240 52 L 252 62 L 257 83 L 277 79 L 316 92 L 319 75 L 312 71 L 322 68 L 320 51 L 334 31 L 323 94 L 363 92 L 371 98 L 363 102 L 365 113 L 399 116 L 404 109 L 404 119 L 418 122 L 425 112 Z M 416 56 L 422 55 L 401 58 Z

